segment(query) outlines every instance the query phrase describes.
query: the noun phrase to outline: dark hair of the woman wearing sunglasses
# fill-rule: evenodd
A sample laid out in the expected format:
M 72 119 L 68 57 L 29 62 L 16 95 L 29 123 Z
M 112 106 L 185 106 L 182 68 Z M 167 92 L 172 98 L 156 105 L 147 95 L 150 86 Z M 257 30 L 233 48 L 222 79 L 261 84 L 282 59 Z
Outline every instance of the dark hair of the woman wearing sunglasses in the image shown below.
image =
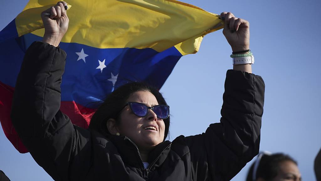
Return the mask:
M 153 86 L 150 86 L 143 82 L 131 82 L 124 84 L 114 90 L 108 97 L 104 100 L 104 102 L 100 105 L 100 107 L 96 110 L 94 115 L 91 118 L 89 129 L 96 130 L 103 135 L 110 135 L 109 130 L 106 126 L 106 122 L 109 118 L 113 118 L 117 120 L 117 115 L 121 109 L 127 103 L 128 98 L 137 91 L 149 91 L 151 92 L 158 104 L 167 105 L 165 99 L 161 95 L 161 93 Z M 165 134 L 164 140 L 169 132 L 169 117 L 167 119 L 163 119 L 165 123 Z

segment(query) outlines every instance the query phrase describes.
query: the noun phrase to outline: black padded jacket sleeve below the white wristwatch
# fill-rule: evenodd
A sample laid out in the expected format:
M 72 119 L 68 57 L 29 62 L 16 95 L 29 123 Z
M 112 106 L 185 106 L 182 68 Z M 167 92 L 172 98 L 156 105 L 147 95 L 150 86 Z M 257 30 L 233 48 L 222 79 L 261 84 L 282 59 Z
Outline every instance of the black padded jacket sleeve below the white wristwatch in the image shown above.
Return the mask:
M 264 91 L 260 76 L 227 71 L 220 123 L 184 138 L 196 180 L 230 180 L 258 154 Z

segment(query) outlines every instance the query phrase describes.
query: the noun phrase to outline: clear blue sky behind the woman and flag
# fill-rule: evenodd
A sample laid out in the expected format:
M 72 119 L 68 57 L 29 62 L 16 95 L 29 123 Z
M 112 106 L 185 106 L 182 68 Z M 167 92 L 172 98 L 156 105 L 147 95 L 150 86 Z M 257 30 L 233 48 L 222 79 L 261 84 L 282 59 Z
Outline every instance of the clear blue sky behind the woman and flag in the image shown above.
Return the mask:
M 250 22 L 253 72 L 266 85 L 260 148 L 290 154 L 299 162 L 303 180 L 316 180 L 313 161 L 321 148 L 321 1 L 184 2 L 216 14 L 230 11 Z M 0 30 L 26 4 L 2 0 Z M 198 53 L 178 62 L 161 89 L 171 107 L 170 140 L 200 134 L 220 120 L 225 74 L 232 68 L 230 53 L 220 30 L 204 37 Z M 0 129 L 0 169 L 12 181 L 52 180 L 29 153 L 18 153 Z M 245 180 L 249 166 L 232 180 Z

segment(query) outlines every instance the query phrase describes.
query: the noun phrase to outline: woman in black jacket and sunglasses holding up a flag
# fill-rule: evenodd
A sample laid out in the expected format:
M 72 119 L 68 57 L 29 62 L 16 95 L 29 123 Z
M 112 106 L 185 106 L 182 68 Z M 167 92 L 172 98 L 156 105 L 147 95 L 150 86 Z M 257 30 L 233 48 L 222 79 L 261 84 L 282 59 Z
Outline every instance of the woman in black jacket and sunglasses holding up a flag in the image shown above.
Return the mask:
M 41 14 L 44 38 L 25 54 L 11 114 L 23 144 L 53 179 L 230 180 L 258 153 L 264 82 L 249 63 L 227 72 L 221 123 L 200 135 L 164 141 L 169 106 L 143 83 L 110 94 L 88 130 L 73 125 L 59 110 L 66 54 L 58 45 L 69 22 L 65 5 Z M 248 53 L 248 22 L 231 13 L 221 19 L 232 51 Z

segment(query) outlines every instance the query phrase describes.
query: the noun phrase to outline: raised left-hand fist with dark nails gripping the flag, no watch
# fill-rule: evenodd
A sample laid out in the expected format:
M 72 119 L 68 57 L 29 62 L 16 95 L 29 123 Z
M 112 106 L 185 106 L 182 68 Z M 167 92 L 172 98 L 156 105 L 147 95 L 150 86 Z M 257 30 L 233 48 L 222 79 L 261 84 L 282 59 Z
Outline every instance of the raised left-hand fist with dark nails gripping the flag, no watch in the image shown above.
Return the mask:
M 67 32 L 69 24 L 67 10 L 65 10 L 66 5 L 66 2 L 61 1 L 41 13 L 42 22 L 45 27 L 43 42 L 56 47 L 59 45 L 61 39 Z

